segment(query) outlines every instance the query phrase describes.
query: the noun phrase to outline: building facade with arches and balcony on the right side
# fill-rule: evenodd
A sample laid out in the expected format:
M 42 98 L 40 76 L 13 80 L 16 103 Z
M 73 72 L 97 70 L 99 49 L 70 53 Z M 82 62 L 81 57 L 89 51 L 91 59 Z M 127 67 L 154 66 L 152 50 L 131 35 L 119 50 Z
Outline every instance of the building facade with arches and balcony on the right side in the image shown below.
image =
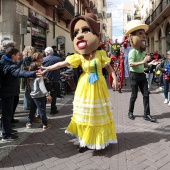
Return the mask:
M 141 20 L 149 25 L 147 52 L 170 50 L 170 0 L 139 0 Z

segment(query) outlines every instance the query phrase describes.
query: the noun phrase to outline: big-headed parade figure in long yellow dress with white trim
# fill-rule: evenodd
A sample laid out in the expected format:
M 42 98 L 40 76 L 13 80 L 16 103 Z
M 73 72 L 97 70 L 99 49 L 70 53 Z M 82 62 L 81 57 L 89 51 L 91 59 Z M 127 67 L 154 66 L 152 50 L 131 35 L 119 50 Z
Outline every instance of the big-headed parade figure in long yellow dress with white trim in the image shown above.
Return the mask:
M 106 80 L 102 75 L 105 67 L 113 77 L 112 85 L 116 89 L 118 82 L 110 66 L 110 58 L 99 47 L 99 27 L 94 14 L 73 18 L 70 23 L 70 34 L 75 53 L 65 61 L 49 67 L 42 67 L 44 72 L 71 65 L 83 69 L 73 102 L 73 116 L 66 133 L 75 135 L 79 139 L 79 152 L 84 148 L 104 149 L 111 143 L 117 143 L 115 123 L 110 107 L 110 100 Z

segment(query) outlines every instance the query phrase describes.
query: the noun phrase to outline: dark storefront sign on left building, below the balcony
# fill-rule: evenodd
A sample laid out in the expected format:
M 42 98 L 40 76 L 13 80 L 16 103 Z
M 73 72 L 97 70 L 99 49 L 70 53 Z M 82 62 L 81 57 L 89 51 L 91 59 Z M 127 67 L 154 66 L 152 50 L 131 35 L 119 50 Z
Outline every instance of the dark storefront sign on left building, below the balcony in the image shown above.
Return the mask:
M 32 23 L 39 25 L 40 27 L 49 29 L 49 23 L 48 23 L 47 19 L 32 9 L 29 9 L 29 20 Z

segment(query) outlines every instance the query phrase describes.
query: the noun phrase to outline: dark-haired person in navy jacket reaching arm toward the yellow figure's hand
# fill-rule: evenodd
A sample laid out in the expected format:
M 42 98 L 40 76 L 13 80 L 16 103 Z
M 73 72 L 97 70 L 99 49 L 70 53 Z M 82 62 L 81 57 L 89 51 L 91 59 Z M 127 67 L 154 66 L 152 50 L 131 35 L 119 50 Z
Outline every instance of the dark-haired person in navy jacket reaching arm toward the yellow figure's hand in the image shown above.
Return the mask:
M 2 140 L 12 141 L 18 138 L 11 129 L 11 119 L 13 115 L 14 97 L 18 94 L 20 77 L 36 77 L 41 76 L 35 71 L 21 70 L 18 65 L 19 50 L 11 49 L 1 60 L 1 83 L 0 98 L 2 100 Z

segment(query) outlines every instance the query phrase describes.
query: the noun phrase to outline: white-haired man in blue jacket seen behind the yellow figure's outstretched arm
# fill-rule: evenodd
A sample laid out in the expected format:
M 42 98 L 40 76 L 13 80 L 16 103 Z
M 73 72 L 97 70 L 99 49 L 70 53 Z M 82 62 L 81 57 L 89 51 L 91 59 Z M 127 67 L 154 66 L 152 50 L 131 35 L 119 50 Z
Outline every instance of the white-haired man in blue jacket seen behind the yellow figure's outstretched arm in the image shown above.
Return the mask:
M 43 66 L 48 67 L 51 66 L 55 63 L 58 63 L 61 61 L 61 58 L 58 56 L 53 55 L 54 51 L 51 47 L 47 47 L 45 49 L 45 55 L 43 59 Z M 51 115 L 54 115 L 58 113 L 57 106 L 56 106 L 56 98 L 57 95 L 60 93 L 60 70 L 54 70 L 54 71 L 49 71 L 45 74 L 45 76 L 53 83 L 53 91 L 51 91 L 51 97 L 52 97 L 52 102 L 51 102 Z

